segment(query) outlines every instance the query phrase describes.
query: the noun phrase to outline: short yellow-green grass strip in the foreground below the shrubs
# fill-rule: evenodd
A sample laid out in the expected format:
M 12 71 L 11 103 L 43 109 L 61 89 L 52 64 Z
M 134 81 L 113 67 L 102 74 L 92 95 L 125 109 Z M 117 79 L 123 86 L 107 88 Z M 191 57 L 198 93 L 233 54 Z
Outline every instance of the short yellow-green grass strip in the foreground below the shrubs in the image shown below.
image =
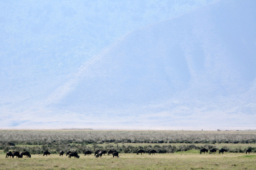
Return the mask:
M 80 155 L 80 159 L 52 154 L 31 158 L 5 158 L 0 155 L 0 169 L 256 169 L 256 154 L 199 154 L 196 150 L 174 154 L 123 154 L 119 158 Z

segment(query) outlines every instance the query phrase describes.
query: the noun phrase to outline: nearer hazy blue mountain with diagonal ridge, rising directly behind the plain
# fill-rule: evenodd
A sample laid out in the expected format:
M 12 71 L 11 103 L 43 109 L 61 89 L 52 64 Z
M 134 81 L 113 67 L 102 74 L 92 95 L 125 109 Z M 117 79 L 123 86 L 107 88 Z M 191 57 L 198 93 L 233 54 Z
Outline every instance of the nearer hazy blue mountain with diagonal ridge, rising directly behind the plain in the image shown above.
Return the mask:
M 3 104 L 3 127 L 255 129 L 255 5 L 217 1 L 131 31 L 40 97 Z

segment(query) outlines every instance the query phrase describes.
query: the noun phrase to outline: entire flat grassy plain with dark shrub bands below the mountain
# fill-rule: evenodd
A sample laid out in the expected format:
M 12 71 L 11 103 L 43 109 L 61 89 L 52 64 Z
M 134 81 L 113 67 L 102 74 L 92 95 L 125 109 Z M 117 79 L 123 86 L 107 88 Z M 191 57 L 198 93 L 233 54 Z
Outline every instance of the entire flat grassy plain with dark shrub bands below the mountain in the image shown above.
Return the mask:
M 0 169 L 256 169 L 255 130 L 0 130 L 0 139 Z M 9 142 L 15 146 L 10 146 Z M 170 145 L 172 147 L 167 147 L 164 154 L 133 154 L 138 148 L 163 151 L 164 146 Z M 203 147 L 225 147 L 229 151 L 200 155 L 199 148 Z M 249 147 L 253 148 L 253 153 L 246 155 L 244 151 Z M 120 157 L 95 158 L 81 154 L 84 150 L 98 148 L 117 149 Z M 28 150 L 32 156 L 6 159 L 5 149 Z M 76 150 L 81 157 L 69 159 L 59 154 L 46 157 L 42 155 L 46 149 L 52 153 Z M 129 149 L 129 153 L 125 154 L 125 149 Z

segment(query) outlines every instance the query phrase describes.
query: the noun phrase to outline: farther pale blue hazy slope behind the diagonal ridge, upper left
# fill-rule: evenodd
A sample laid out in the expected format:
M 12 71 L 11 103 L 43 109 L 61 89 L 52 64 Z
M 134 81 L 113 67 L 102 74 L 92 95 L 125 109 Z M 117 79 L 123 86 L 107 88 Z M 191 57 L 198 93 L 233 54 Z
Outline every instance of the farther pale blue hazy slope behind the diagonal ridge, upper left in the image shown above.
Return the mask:
M 44 96 L 123 34 L 206 3 L 0 1 L 3 103 Z

